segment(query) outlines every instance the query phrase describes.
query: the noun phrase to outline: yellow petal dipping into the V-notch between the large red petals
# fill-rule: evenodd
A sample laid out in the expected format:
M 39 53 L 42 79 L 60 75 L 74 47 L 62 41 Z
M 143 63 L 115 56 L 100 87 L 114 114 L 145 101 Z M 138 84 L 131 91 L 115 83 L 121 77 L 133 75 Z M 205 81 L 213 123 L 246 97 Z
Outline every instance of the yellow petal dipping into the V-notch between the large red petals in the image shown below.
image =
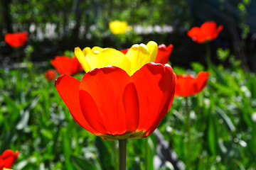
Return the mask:
M 132 74 L 140 69 L 144 64 L 150 62 L 150 53 L 148 47 L 144 44 L 132 45 L 132 47 L 127 51 L 126 56 L 131 60 L 132 64 Z

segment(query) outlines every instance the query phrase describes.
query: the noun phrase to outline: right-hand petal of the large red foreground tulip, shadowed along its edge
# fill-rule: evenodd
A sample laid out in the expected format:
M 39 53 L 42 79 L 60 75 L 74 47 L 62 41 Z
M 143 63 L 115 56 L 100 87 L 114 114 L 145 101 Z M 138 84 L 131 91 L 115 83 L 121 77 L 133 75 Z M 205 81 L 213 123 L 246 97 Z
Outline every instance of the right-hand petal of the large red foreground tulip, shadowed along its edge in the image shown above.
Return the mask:
M 139 96 L 139 126 L 150 135 L 169 111 L 174 98 L 174 72 L 169 64 L 148 63 L 132 76 Z

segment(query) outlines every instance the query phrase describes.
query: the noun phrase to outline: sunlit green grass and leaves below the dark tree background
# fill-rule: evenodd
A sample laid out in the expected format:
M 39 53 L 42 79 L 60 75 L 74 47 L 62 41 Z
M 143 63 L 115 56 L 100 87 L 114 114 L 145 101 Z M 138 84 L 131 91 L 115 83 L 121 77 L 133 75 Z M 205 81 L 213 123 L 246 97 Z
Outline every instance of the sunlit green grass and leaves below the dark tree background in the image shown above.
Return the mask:
M 174 67 L 176 74 L 196 74 Z M 19 151 L 13 169 L 117 169 L 117 142 L 102 140 L 75 123 L 42 68 L 0 70 L 0 152 Z M 82 79 L 82 74 L 75 76 Z M 210 70 L 208 85 L 188 98 L 191 154 L 186 150 L 185 99 L 174 98 L 159 131 L 190 169 L 256 169 L 256 77 L 238 67 Z M 147 141 L 146 141 L 147 140 Z M 149 149 L 144 145 L 148 144 Z M 154 134 L 127 141 L 127 169 L 171 169 Z M 146 158 L 145 159 L 145 152 Z M 158 153 L 158 154 L 157 154 Z M 167 159 L 167 156 L 164 154 Z M 147 161 L 146 161 L 147 160 Z M 182 166 L 182 164 L 181 164 Z

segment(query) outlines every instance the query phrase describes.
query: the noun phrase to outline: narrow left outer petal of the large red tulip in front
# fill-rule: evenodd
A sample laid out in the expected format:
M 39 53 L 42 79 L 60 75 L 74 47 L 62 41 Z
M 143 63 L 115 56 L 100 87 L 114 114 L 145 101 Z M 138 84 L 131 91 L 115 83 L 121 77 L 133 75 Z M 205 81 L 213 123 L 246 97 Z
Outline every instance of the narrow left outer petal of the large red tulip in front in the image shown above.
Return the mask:
M 75 121 L 93 134 L 97 134 L 97 132 L 90 127 L 85 120 L 82 111 L 80 109 L 80 101 L 79 101 L 79 86 L 80 81 L 68 76 L 67 74 L 63 74 L 55 80 L 55 86 L 60 94 L 60 97 L 63 99 L 65 105 L 68 107 L 72 117 Z

